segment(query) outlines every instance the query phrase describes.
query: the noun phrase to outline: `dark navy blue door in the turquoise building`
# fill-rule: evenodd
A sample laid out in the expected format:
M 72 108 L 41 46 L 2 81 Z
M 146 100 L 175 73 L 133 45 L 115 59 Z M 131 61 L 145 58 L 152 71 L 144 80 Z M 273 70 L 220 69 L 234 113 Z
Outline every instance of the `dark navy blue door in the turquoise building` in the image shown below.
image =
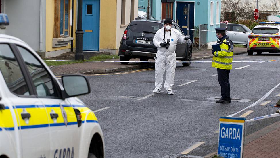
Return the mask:
M 190 4 L 189 15 L 188 4 Z M 184 34 L 187 34 L 187 28 L 193 29 L 194 25 L 194 2 L 177 2 L 176 8 L 176 22 L 182 28 Z M 193 30 L 189 30 L 189 35 L 191 36 L 191 41 L 193 42 Z

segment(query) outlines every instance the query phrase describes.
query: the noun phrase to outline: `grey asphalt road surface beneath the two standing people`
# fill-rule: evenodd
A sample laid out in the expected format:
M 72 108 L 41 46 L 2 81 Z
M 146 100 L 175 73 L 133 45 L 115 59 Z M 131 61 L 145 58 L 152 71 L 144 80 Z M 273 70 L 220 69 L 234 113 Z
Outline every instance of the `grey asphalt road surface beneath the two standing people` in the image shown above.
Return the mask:
M 211 61 L 206 59 L 203 61 Z M 236 55 L 234 61 L 280 60 L 280 53 L 248 56 Z M 242 69 L 243 66 L 248 67 Z M 220 86 L 216 68 L 210 63 L 177 64 L 174 95 L 164 92 L 152 95 L 154 70 L 134 73 L 87 76 L 91 93 L 80 99 L 96 112 L 104 133 L 107 158 L 165 157 L 179 154 L 197 142 L 205 142 L 187 155 L 205 156 L 218 148 L 219 117 L 236 113 L 264 96 L 279 84 L 279 62 L 234 63 L 230 72 L 230 104 L 217 104 Z M 194 81 L 197 80 L 197 81 Z M 189 84 L 187 82 L 193 81 Z M 263 102 L 248 110 L 246 119 L 275 113 L 280 87 Z M 151 94 L 151 96 L 149 96 Z M 147 96 L 146 98 L 143 98 Z M 141 99 L 141 100 L 137 100 Z M 240 100 L 238 100 L 240 99 Z M 242 102 L 241 102 L 242 101 Z M 262 103 L 263 103 L 262 102 Z M 239 117 L 243 111 L 234 117 Z M 246 135 L 260 130 L 278 117 L 246 124 Z

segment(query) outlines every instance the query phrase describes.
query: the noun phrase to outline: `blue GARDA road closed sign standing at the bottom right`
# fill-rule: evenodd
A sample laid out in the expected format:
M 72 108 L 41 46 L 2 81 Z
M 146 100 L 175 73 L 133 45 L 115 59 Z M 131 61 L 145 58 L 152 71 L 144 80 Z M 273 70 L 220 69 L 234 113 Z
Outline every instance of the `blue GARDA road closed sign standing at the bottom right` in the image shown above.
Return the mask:
M 218 155 L 242 158 L 245 118 L 220 117 Z

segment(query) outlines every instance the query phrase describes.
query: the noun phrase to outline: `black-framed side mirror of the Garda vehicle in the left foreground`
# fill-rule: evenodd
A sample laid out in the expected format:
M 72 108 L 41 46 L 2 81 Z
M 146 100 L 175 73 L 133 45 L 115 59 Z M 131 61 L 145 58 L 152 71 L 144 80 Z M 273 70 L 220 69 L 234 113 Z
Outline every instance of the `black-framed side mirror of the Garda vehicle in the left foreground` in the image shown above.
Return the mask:
M 64 75 L 61 77 L 64 86 L 63 99 L 78 95 L 89 94 L 89 81 L 83 75 Z

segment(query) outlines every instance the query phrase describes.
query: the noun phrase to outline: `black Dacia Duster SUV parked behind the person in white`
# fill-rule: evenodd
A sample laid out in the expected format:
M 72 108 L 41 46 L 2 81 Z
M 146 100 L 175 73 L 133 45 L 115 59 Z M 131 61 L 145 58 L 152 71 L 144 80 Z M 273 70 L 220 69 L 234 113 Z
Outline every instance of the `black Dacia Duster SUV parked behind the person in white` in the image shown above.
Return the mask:
M 164 25 L 164 20 L 142 20 L 137 18 L 127 26 L 120 42 L 119 56 L 120 61 L 129 61 L 132 58 L 139 58 L 140 61 L 154 59 L 157 53 L 157 47 L 153 44 L 154 35 Z M 173 21 L 172 28 L 179 30 L 183 35 L 182 29 Z M 192 52 L 191 40 L 186 43 L 178 44 L 176 48 L 176 59 L 181 61 L 191 61 Z M 120 62 L 128 64 L 128 62 Z M 183 63 L 183 66 L 189 66 L 190 63 Z

